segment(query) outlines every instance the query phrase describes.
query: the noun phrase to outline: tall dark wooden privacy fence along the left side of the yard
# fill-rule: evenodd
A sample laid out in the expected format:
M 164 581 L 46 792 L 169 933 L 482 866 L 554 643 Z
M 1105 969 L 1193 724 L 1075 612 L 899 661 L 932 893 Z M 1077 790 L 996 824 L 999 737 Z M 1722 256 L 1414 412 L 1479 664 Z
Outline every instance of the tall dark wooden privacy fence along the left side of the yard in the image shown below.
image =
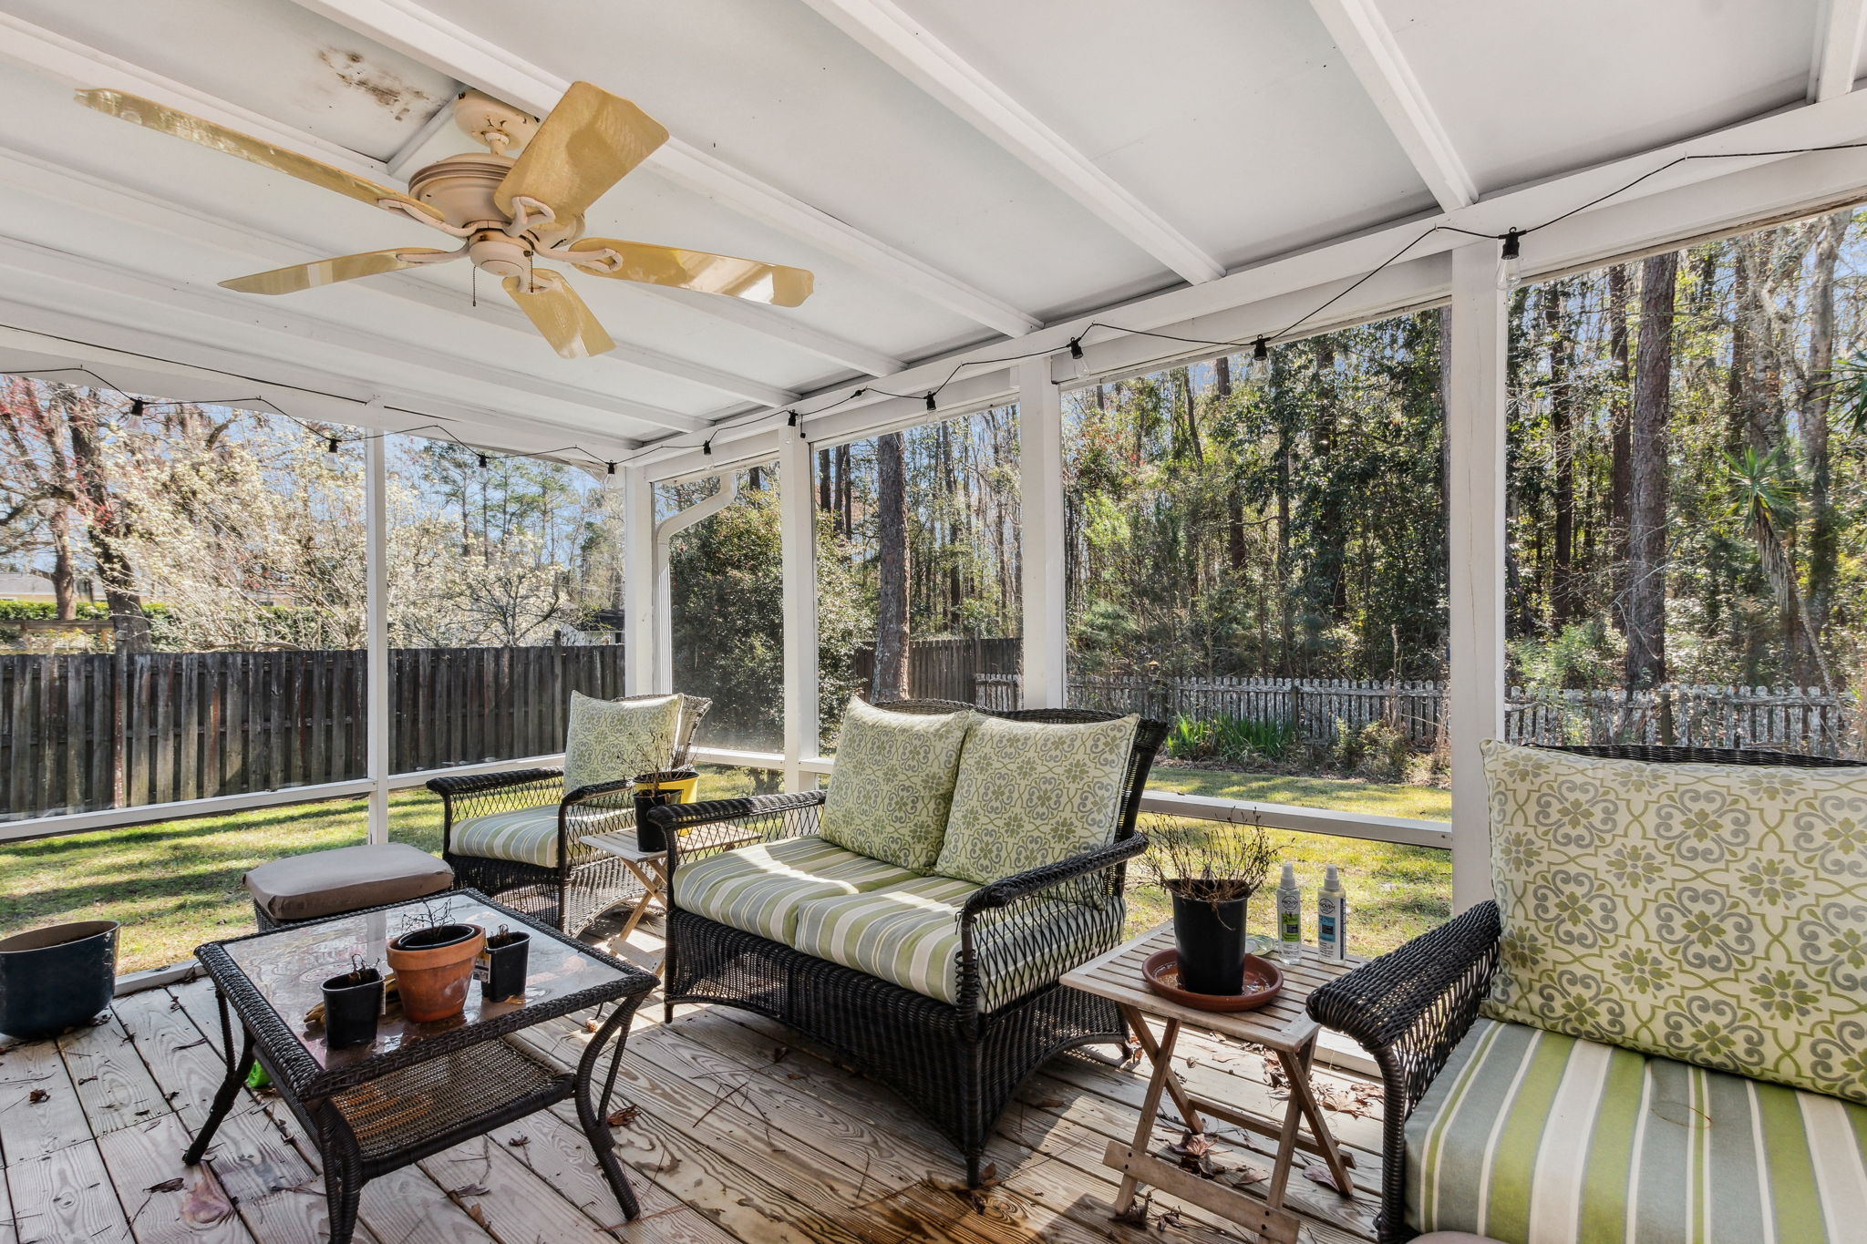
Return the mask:
M 622 647 L 390 653 L 390 768 L 564 750 Z M 0 819 L 368 776 L 362 651 L 0 655 Z

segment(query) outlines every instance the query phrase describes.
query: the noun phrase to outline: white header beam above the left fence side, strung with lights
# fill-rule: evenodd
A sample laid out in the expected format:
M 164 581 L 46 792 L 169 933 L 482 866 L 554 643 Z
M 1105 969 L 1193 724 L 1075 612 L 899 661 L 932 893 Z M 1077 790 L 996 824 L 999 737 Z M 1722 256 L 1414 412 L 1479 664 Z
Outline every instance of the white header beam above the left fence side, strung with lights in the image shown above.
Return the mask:
M 293 352 L 304 351 L 304 347 L 338 349 L 375 360 L 377 366 L 390 371 L 418 367 L 441 377 L 472 380 L 478 386 L 485 386 L 489 399 L 497 394 L 500 397 L 498 405 L 513 410 L 526 408 L 532 397 L 545 397 L 588 410 L 594 420 L 614 420 L 620 416 L 648 427 L 663 427 L 678 433 L 708 427 L 704 420 L 693 416 L 644 407 L 624 397 L 532 377 L 523 371 L 495 367 L 461 354 L 386 339 L 381 334 L 349 325 L 295 315 L 278 310 L 276 304 L 243 298 L 218 287 L 189 287 L 172 280 L 142 276 L 114 263 L 4 235 L 0 235 L 0 270 L 28 272 L 54 282 L 67 282 L 73 287 L 103 291 L 112 298 L 125 300 L 125 304 L 149 304 L 153 308 L 151 313 L 157 317 L 192 311 L 245 328 L 278 334 L 282 338 L 282 356 L 288 358 Z M 24 295 L 15 297 L 24 298 Z

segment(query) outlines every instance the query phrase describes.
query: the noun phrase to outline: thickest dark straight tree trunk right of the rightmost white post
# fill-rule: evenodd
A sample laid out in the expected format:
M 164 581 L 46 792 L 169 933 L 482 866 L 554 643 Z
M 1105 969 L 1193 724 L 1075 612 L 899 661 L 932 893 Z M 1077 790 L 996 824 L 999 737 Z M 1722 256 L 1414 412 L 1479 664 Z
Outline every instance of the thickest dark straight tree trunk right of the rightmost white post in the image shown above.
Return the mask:
M 1673 298 L 1678 254 L 1641 261 L 1639 345 L 1628 427 L 1626 684 L 1665 681 L 1667 418 L 1673 390 Z

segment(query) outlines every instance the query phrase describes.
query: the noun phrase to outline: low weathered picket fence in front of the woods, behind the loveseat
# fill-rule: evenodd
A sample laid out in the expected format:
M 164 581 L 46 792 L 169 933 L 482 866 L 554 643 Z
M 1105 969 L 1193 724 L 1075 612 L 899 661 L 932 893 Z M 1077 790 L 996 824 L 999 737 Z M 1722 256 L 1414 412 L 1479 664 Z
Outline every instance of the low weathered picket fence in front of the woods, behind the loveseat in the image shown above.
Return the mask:
M 975 681 L 982 709 L 1018 705 L 1018 675 Z M 1344 726 L 1391 722 L 1415 748 L 1436 746 L 1447 722 L 1445 684 L 1346 679 L 1122 679 L 1072 677 L 1070 703 L 1172 720 L 1294 722 L 1307 742 L 1333 742 Z M 1505 692 L 1510 742 L 1658 742 L 1705 748 L 1854 752 L 1852 692 L 1818 686 L 1686 686 L 1650 690 Z

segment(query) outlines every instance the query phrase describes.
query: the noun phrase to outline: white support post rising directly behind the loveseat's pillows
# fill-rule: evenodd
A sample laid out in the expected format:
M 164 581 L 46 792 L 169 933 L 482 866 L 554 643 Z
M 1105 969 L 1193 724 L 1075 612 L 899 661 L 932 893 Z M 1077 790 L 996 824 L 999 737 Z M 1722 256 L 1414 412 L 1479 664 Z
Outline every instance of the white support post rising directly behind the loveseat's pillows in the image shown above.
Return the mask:
M 1047 354 L 1018 364 L 1018 509 L 1023 565 L 1023 707 L 1062 709 L 1068 686 L 1064 621 L 1062 390 Z

